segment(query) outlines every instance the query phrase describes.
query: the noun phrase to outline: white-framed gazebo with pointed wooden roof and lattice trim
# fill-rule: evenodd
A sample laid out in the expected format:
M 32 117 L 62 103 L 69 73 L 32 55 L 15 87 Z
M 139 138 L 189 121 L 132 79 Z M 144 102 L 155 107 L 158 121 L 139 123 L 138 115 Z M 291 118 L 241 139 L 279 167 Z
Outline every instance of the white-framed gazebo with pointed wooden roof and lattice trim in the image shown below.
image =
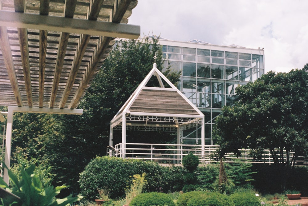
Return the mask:
M 160 87 L 147 86 L 153 76 L 156 76 Z M 169 88 L 164 85 L 168 85 Z M 117 156 L 125 158 L 126 131 L 134 130 L 175 131 L 177 149 L 179 149 L 182 131 L 196 125 L 201 125 L 201 145 L 205 145 L 203 113 L 156 68 L 154 63 L 150 73 L 110 121 L 110 146 L 107 148 L 109 152 L 115 150 L 113 130 L 122 130 L 122 140 Z M 204 149 L 201 149 L 201 153 L 204 155 Z

